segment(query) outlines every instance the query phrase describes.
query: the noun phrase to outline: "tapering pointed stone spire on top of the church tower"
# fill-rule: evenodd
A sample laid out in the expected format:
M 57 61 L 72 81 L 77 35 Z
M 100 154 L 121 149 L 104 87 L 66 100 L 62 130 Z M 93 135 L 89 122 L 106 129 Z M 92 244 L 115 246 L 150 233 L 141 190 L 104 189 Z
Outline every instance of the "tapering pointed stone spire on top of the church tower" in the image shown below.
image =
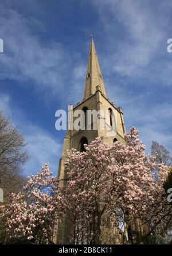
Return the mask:
M 85 82 L 84 100 L 96 92 L 96 86 L 99 85 L 101 93 L 107 97 L 103 76 L 101 74 L 99 60 L 97 58 L 95 44 L 91 35 L 91 45 L 88 57 L 87 77 Z

